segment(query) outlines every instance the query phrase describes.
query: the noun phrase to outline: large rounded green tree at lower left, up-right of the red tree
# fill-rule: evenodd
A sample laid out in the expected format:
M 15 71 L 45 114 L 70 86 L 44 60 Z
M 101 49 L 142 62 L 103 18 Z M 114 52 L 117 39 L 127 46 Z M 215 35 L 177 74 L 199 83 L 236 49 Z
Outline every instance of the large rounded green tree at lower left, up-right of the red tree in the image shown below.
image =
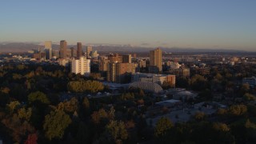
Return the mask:
M 62 110 L 51 111 L 47 114 L 43 124 L 46 138 L 52 140 L 53 138 L 61 139 L 64 135 L 66 127 L 71 123 L 70 116 Z

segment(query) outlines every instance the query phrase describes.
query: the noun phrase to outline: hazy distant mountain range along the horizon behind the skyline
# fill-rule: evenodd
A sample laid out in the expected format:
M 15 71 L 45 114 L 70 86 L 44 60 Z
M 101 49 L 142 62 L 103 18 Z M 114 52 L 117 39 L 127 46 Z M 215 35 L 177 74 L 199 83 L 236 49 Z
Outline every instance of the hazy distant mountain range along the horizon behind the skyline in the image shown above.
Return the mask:
M 28 50 L 42 48 L 44 46 L 39 43 L 32 42 L 0 42 L 0 53 L 9 53 L 9 52 L 27 52 Z M 68 46 L 68 47 L 76 47 L 76 46 Z M 53 49 L 58 50 L 59 45 L 53 44 Z M 110 51 L 110 52 L 146 52 L 149 50 L 154 50 L 152 47 L 140 47 L 140 46 L 130 46 L 130 45 L 93 45 L 94 50 L 98 51 Z M 195 49 L 195 48 L 178 48 L 178 47 L 161 47 L 163 51 L 167 53 L 179 53 L 179 52 L 187 52 L 187 53 L 212 53 L 212 52 L 223 52 L 223 53 L 246 53 L 246 50 L 225 50 L 225 49 Z M 86 50 L 86 46 L 83 46 L 83 50 Z

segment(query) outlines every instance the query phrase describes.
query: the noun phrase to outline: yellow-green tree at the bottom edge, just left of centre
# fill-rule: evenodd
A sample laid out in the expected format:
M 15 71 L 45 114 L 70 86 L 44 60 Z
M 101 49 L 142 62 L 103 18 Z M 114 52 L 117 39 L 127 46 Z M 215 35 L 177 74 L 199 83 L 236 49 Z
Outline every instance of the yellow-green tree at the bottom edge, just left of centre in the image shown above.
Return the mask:
M 106 131 L 116 143 L 121 143 L 128 138 L 126 125 L 122 121 L 110 121 L 110 123 L 106 126 Z

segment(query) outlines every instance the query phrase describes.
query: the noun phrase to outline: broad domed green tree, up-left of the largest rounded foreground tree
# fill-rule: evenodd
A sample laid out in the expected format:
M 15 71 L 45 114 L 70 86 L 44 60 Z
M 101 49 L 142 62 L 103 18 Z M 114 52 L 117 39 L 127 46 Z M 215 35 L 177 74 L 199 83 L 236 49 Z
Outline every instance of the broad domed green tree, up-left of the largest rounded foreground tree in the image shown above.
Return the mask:
M 40 91 L 36 91 L 34 93 L 30 93 L 28 96 L 28 102 L 32 104 L 33 102 L 41 102 L 43 104 L 49 104 L 50 101 L 46 97 L 46 94 L 43 94 Z

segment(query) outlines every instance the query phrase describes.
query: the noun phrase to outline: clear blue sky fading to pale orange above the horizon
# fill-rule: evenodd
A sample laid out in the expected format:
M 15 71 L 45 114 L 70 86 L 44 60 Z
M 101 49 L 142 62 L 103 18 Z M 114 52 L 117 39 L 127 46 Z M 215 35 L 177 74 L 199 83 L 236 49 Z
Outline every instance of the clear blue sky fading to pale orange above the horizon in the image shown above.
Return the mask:
M 0 42 L 256 51 L 255 0 L 8 0 Z

